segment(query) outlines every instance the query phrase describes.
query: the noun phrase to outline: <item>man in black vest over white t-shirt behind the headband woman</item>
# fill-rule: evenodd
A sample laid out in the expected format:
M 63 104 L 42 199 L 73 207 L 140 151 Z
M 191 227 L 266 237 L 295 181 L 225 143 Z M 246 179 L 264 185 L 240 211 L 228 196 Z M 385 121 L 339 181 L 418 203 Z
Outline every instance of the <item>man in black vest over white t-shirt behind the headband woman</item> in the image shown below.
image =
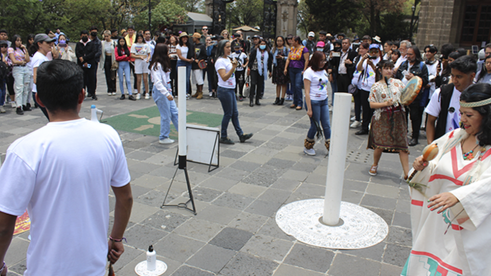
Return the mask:
M 460 94 L 473 83 L 476 76 L 477 64 L 471 56 L 459 57 L 449 66 L 452 70 L 452 84 L 443 85 L 436 89 L 425 109 L 428 114 L 428 122 L 426 123 L 428 144 L 443 134 L 459 128 Z

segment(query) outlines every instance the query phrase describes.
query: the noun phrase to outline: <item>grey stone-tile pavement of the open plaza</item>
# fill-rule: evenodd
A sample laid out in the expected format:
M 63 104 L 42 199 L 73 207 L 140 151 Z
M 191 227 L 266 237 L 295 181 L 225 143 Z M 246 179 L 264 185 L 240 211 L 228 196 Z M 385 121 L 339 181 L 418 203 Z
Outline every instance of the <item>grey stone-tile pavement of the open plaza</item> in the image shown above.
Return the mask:
M 105 91 L 105 79 L 99 71 L 99 100 L 86 99 L 81 116 L 90 118 L 91 104 L 104 110 L 104 117 L 154 105 L 151 99 L 143 98 L 121 101 Z M 145 260 L 150 244 L 157 258 L 168 265 L 164 275 L 399 275 L 411 246 L 409 193 L 406 185 L 399 184 L 399 158 L 397 154 L 383 154 L 378 175 L 370 176 L 373 151 L 366 150 L 367 135 L 354 135 L 356 129 L 349 131 L 343 200 L 380 215 L 389 225 L 387 238 L 366 249 L 331 250 L 298 242 L 278 228 L 275 213 L 283 204 L 324 196 L 327 151 L 319 142 L 314 147 L 316 156 L 303 153 L 309 127 L 306 112 L 289 108 L 289 102 L 272 105 L 274 91 L 268 81 L 261 106 L 238 103 L 241 127 L 254 136 L 246 143 L 220 145 L 218 169 L 208 173 L 207 166 L 188 163 L 196 216 L 185 210 L 160 208 L 176 168 L 177 143 L 160 145 L 158 137 L 120 131 L 135 201 L 125 233 L 125 252 L 115 265 L 117 275 L 135 275 L 134 268 Z M 219 101 L 208 95 L 189 100 L 187 106 L 188 110 L 222 113 Z M 2 160 L 15 139 L 47 123 L 39 109 L 24 116 L 7 109 L 0 115 Z M 228 130 L 231 139 L 238 142 L 232 124 Z M 422 147 L 411 148 L 411 163 Z M 176 180 L 170 190 L 172 203 L 186 201 L 182 171 L 177 172 Z M 114 199 L 109 195 L 111 211 Z M 5 259 L 9 275 L 25 269 L 28 235 L 23 233 L 12 240 Z

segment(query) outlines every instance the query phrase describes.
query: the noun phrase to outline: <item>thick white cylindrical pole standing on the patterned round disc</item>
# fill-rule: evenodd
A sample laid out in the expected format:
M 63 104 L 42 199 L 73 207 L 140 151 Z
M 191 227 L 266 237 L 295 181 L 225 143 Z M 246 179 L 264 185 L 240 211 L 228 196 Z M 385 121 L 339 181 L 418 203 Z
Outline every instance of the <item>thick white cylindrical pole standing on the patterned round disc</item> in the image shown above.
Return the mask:
M 327 164 L 326 193 L 322 221 L 327 225 L 339 223 L 341 196 L 343 194 L 344 167 L 348 146 L 349 114 L 351 111 L 351 94 L 334 94 L 332 112 L 331 147 Z

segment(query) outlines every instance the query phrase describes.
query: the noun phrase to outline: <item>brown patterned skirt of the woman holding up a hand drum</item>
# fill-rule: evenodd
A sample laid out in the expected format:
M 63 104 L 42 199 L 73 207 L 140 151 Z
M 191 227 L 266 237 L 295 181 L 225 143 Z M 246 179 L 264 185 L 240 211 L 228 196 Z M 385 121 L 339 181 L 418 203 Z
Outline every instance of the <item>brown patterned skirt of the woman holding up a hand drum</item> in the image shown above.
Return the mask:
M 372 117 L 367 148 L 409 152 L 407 134 L 406 112 L 400 106 L 389 108 L 382 111 L 378 120 Z

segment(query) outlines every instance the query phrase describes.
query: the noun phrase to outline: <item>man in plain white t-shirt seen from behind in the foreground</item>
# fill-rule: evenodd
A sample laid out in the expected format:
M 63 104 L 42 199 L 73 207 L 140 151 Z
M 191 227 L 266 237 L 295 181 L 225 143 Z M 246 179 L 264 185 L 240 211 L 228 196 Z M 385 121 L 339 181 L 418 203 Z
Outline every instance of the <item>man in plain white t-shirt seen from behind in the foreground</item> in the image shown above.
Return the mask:
M 115 263 L 124 251 L 132 195 L 123 146 L 109 125 L 79 117 L 84 96 L 75 63 L 57 59 L 39 66 L 36 99 L 50 123 L 13 142 L 0 168 L 2 276 L 15 220 L 26 209 L 32 237 L 26 276 L 101 276 L 107 260 Z M 109 188 L 116 206 L 107 241 Z

